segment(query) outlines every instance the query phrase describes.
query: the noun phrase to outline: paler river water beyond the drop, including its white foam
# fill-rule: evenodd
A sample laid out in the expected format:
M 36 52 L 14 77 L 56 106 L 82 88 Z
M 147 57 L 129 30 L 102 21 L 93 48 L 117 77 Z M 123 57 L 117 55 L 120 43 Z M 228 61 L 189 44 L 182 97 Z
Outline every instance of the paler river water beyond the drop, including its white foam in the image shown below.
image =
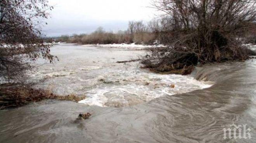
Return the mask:
M 80 103 L 97 106 L 131 106 L 161 96 L 186 93 L 210 87 L 193 77 L 161 75 L 141 69 L 138 62 L 116 63 L 136 59 L 145 50 L 102 48 L 81 45 L 55 45 L 52 54 L 59 57 L 54 64 L 44 64 L 33 71 L 33 79 L 47 78 L 38 87 L 51 89 L 59 95 L 85 95 Z M 175 88 L 171 88 L 171 84 Z

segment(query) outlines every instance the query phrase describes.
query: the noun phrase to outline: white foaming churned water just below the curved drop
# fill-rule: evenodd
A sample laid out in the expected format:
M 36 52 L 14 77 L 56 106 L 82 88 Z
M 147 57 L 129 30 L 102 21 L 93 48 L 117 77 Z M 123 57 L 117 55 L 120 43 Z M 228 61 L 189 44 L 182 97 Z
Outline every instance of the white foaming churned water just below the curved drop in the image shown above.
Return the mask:
M 212 82 L 200 82 L 193 77 L 175 74 L 160 75 L 140 71 L 137 75 L 129 72 L 122 72 L 122 75 L 107 74 L 98 77 L 99 81 L 113 85 L 104 88 L 99 86 L 86 91 L 87 98 L 79 103 L 102 107 L 117 106 L 116 104 L 118 106 L 130 106 L 162 96 L 187 93 L 213 85 Z M 171 88 L 171 84 L 174 84 L 175 88 Z

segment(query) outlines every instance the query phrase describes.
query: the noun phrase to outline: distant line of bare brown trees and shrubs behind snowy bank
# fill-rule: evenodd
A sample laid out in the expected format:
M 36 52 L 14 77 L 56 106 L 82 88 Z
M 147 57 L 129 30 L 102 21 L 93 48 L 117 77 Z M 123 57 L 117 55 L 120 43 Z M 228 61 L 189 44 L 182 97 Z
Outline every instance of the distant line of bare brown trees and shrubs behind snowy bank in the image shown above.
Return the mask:
M 251 23 L 251 29 L 236 35 L 240 37 L 240 42 L 256 44 L 256 23 Z M 193 28 L 190 28 L 192 30 Z M 78 44 L 121 44 L 135 43 L 153 45 L 161 43 L 168 45 L 177 38 L 181 28 L 178 24 L 173 23 L 173 19 L 164 15 L 160 19 L 153 19 L 147 24 L 143 21 L 130 21 L 127 30 L 118 32 L 107 32 L 103 27 L 98 27 L 91 34 L 73 34 L 61 35 L 54 38 L 56 42 L 78 43 Z M 183 31 L 184 32 L 184 31 Z M 242 35 L 241 35 L 242 34 Z M 242 37 L 242 38 L 241 38 Z M 45 39 L 51 42 L 50 38 Z

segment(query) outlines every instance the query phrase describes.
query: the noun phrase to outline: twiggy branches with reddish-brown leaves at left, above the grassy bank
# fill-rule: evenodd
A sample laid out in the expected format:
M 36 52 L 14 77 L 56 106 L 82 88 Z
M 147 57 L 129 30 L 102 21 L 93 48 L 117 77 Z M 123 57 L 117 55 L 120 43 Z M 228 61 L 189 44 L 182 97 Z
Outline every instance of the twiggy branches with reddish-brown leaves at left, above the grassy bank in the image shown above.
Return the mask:
M 0 1 L 0 82 L 17 82 L 31 68 L 29 61 L 42 56 L 53 60 L 50 45 L 43 44 L 40 20 L 53 7 L 47 0 Z

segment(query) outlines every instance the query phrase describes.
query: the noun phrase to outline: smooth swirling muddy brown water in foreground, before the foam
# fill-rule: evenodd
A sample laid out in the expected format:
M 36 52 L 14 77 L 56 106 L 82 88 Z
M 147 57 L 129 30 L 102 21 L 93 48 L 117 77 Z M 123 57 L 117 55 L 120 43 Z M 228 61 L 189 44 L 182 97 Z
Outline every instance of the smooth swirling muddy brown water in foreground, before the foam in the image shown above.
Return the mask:
M 45 100 L 0 111 L 0 142 L 256 142 L 256 61 L 197 67 L 206 89 L 120 108 Z M 76 120 L 90 112 L 87 120 Z M 247 124 L 251 139 L 224 139 L 223 125 Z

